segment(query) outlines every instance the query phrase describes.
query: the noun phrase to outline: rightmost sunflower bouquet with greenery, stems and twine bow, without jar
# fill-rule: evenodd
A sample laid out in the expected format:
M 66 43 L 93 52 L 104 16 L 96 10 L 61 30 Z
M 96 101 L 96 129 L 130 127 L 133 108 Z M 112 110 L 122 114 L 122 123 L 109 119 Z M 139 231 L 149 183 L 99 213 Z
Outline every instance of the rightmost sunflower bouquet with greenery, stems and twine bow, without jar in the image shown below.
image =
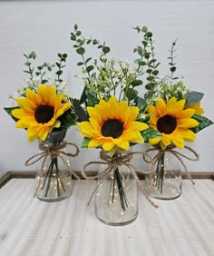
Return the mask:
M 194 142 L 196 133 L 208 127 L 212 121 L 203 115 L 204 110 L 200 103 L 203 94 L 190 91 L 182 78 L 174 76 L 177 69 L 174 57 L 177 40 L 171 44 L 170 56 L 168 57 L 170 75 L 161 77 L 158 70 L 160 63 L 154 53 L 153 34 L 145 26 L 137 26 L 135 29 L 138 33 L 143 34 L 141 45 L 138 45 L 134 52 L 140 56 L 135 60 L 135 63 L 142 77 L 145 77 L 145 89 L 147 90 L 141 101 L 141 113 L 148 115 L 148 124 L 161 134 L 160 137 L 150 138 L 148 142 L 153 146 L 148 152 L 157 152 L 153 157 L 155 172 L 151 183 L 162 193 L 164 179 L 167 176 L 164 166 L 166 152 L 170 152 L 180 161 L 191 182 L 194 183 L 181 157 L 197 161 L 199 155 L 185 143 Z M 179 153 L 175 151 L 175 148 L 185 148 L 193 153 L 195 158 Z M 169 173 L 170 179 L 174 175 L 179 180 L 176 174 L 172 174 L 172 171 Z M 170 190 L 168 188 L 166 191 L 172 192 L 175 189 Z

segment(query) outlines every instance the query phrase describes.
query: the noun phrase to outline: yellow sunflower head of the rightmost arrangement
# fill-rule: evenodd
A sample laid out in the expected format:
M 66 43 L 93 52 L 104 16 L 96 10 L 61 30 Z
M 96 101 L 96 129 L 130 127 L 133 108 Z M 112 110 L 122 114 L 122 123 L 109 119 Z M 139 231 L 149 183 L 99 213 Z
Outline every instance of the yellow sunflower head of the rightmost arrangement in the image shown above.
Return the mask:
M 149 105 L 147 112 L 151 114 L 151 127 L 161 133 L 162 137 L 150 139 L 151 145 L 160 143 L 162 149 L 173 143 L 179 148 L 184 147 L 184 141 L 193 142 L 196 138 L 190 128 L 199 123 L 191 118 L 194 109 L 184 109 L 185 100 L 177 101 L 175 97 L 165 103 L 162 98 L 156 105 Z

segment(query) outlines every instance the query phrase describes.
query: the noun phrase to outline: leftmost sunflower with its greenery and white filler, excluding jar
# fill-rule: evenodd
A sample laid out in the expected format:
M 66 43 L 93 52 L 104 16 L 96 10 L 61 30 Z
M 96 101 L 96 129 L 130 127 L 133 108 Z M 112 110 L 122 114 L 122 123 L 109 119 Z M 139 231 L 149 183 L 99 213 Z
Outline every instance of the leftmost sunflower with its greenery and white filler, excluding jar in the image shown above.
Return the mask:
M 44 63 L 36 68 L 32 66 L 36 54 L 24 54 L 27 70 L 30 75 L 22 88 L 18 88 L 10 98 L 15 100 L 16 106 L 6 107 L 5 111 L 15 120 L 17 128 L 24 128 L 29 142 L 38 138 L 44 141 L 52 131 L 67 129 L 74 125 L 76 116 L 73 110 L 72 98 L 66 92 L 66 84 L 61 78 L 67 54 L 58 54 L 58 61 L 54 64 Z M 46 77 L 57 67 L 56 77 Z

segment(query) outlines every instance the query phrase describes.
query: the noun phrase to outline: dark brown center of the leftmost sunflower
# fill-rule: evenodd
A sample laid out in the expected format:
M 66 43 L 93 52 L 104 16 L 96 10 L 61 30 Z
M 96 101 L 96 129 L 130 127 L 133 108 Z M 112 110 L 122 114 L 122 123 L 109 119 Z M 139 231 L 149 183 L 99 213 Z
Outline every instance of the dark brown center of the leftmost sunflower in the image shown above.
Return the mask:
M 34 112 L 34 118 L 38 123 L 48 123 L 54 114 L 54 108 L 50 105 L 40 105 Z

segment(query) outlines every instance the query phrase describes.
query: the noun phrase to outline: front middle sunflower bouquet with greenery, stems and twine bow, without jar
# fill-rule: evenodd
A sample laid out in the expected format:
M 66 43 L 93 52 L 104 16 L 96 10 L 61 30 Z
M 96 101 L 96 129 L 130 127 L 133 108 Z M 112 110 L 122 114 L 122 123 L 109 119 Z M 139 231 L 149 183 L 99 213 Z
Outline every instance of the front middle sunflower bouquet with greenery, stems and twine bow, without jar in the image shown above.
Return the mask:
M 123 181 L 125 174 L 120 172 L 122 165 L 128 167 L 135 182 L 151 202 L 135 173 L 145 172 L 137 170 L 130 163 L 132 155 L 136 152 L 127 153 L 127 151 L 136 143 L 148 142 L 150 138 L 159 137 L 160 133 L 145 123 L 140 113 L 138 104 L 141 99 L 137 87 L 142 84 L 138 78 L 141 72 L 128 62 L 108 57 L 111 48 L 105 43 L 101 44 L 96 38 L 85 38 L 78 25 L 74 25 L 71 40 L 76 54 L 82 58 L 77 65 L 82 68 L 83 94 L 80 101 L 74 103 L 75 112 L 79 116 L 77 126 L 83 135 L 82 146 L 101 148 L 102 162 L 97 163 L 104 163 L 107 166 L 103 172 L 91 177 L 86 174 L 85 168 L 96 162 L 88 162 L 83 166 L 82 174 L 89 180 L 100 179 L 94 192 L 104 180 L 112 180 L 109 200 L 111 204 L 115 201 L 117 193 L 115 188 L 117 188 L 124 214 L 129 212 L 127 203 L 129 196 L 125 192 L 127 182 Z M 90 44 L 100 51 L 97 58 L 87 56 L 87 47 Z M 140 154 L 144 155 L 142 152 Z M 90 201 L 91 199 L 92 197 Z M 153 202 L 151 203 L 157 207 Z

